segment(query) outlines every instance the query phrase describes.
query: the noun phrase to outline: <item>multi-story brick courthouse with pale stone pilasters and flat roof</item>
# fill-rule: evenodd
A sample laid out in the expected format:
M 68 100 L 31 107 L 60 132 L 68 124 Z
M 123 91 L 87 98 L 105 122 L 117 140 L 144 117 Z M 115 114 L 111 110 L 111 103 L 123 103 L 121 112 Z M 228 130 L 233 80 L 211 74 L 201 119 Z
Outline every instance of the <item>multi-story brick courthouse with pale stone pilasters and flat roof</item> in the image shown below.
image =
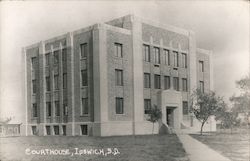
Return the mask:
M 162 110 L 154 133 L 162 123 L 195 127 L 190 93 L 213 88 L 211 52 L 192 31 L 131 15 L 23 52 L 26 135 L 150 134 L 152 106 Z

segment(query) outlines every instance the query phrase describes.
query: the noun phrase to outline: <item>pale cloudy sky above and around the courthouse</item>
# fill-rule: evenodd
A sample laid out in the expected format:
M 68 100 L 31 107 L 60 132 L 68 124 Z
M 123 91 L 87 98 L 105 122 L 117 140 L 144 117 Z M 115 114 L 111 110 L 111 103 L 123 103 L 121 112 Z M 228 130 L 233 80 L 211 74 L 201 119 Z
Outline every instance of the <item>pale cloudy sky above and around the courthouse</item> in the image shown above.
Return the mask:
M 214 90 L 225 101 L 249 74 L 248 1 L 5 1 L 0 2 L 0 118 L 24 118 L 22 47 L 134 14 L 196 33 L 213 51 Z

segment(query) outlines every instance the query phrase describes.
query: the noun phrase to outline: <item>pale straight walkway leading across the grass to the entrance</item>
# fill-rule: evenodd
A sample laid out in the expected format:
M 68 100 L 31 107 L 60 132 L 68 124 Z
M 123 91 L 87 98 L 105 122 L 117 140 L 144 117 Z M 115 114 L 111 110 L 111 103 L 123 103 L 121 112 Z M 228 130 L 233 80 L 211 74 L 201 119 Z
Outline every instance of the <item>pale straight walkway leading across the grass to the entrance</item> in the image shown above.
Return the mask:
M 230 161 L 207 145 L 192 138 L 188 134 L 177 134 L 186 150 L 190 161 Z

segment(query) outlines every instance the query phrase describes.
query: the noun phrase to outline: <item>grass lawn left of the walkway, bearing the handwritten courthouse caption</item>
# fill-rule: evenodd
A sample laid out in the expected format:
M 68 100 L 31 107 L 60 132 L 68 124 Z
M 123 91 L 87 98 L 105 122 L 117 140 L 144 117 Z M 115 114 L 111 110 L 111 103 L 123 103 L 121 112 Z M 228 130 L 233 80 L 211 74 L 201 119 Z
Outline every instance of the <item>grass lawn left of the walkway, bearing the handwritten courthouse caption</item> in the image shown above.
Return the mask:
M 76 152 L 75 148 L 78 148 Z M 112 148 L 113 153 L 103 155 Z M 114 148 L 117 148 L 114 149 Z M 28 149 L 28 150 L 27 150 Z M 66 149 L 65 155 L 28 155 L 41 149 Z M 104 149 L 84 154 L 84 149 Z M 34 151 L 36 150 L 36 151 Z M 79 155 L 80 151 L 83 155 Z M 55 151 L 54 151 L 55 152 Z M 27 154 L 26 154 L 27 153 Z M 43 153 L 44 154 L 44 153 Z M 52 154 L 52 153 L 50 153 Z M 116 137 L 32 136 L 0 138 L 0 160 L 152 160 L 185 161 L 185 150 L 176 135 L 143 135 Z

